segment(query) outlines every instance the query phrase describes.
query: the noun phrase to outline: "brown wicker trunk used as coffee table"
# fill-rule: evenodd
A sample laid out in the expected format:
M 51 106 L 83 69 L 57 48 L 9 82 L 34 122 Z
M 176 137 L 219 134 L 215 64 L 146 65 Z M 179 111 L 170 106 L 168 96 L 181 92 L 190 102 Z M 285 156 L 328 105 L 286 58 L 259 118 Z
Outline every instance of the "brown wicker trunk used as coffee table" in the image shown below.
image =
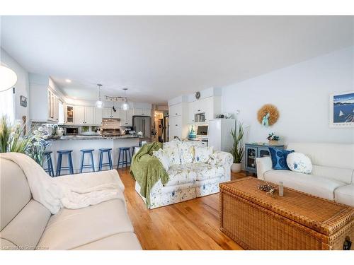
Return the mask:
M 286 188 L 272 197 L 257 189 L 261 182 L 219 185 L 220 229 L 244 249 L 343 249 L 354 241 L 353 207 Z

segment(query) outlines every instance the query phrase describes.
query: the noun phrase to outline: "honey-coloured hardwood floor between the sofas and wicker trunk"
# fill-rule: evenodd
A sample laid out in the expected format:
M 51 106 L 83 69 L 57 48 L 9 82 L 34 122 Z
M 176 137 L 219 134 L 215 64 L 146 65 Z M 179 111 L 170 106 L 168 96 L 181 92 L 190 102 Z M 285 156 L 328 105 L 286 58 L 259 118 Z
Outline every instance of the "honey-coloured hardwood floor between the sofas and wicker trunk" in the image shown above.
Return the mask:
M 219 194 L 149 210 L 135 192 L 129 169 L 118 173 L 125 184 L 130 220 L 143 249 L 242 249 L 219 230 Z

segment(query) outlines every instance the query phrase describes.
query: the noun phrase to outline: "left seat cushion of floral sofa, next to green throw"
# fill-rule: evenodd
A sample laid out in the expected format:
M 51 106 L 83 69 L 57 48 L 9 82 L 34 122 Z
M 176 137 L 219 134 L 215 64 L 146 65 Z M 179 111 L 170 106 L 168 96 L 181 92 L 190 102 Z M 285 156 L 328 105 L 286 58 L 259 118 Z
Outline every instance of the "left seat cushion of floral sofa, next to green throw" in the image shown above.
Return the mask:
M 186 165 L 171 165 L 167 173 L 169 174 L 169 182 L 164 184 L 164 186 L 174 186 L 195 182 L 197 179 L 197 173 L 190 170 L 190 168 Z

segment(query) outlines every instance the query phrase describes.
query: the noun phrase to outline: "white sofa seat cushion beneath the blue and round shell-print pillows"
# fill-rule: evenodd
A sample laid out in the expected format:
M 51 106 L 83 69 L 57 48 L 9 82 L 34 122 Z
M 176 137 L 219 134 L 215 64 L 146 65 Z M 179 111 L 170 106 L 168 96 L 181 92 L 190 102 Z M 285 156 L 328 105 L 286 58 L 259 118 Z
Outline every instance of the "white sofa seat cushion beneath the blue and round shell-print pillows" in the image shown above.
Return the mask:
M 285 187 L 296 189 L 300 192 L 319 196 L 333 201 L 334 190 L 345 185 L 338 180 L 328 179 L 315 175 L 306 175 L 289 170 L 269 170 L 264 173 L 264 179 L 274 184 L 283 182 Z M 286 192 L 285 192 L 286 196 Z

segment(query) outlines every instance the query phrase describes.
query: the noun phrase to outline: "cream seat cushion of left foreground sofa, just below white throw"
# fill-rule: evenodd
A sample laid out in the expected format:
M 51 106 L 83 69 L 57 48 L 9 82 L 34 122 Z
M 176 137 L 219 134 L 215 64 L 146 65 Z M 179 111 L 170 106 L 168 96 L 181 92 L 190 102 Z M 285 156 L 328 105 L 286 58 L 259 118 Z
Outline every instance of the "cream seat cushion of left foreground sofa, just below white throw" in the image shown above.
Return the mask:
M 133 232 L 120 199 L 86 208 L 62 208 L 52 216 L 38 245 L 49 249 L 73 249 L 122 232 Z

